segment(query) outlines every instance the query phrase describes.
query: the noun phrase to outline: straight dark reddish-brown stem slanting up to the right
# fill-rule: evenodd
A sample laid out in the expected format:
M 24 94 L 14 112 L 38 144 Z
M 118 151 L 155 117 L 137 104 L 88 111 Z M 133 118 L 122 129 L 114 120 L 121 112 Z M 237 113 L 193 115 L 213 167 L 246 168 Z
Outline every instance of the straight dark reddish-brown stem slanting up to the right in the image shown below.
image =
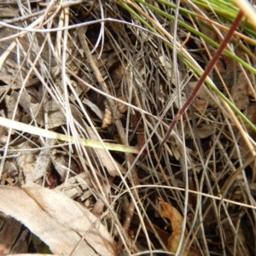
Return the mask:
M 217 51 L 215 52 L 215 54 L 212 56 L 212 60 L 208 63 L 205 72 L 202 74 L 201 78 L 198 80 L 195 89 L 192 90 L 192 92 L 190 93 L 187 101 L 184 103 L 183 107 L 178 111 L 177 115 L 175 116 L 175 118 L 172 120 L 171 125 L 169 126 L 169 129 L 166 133 L 166 137 L 164 137 L 163 141 L 160 143 L 160 146 L 158 148 L 157 154 L 160 157 L 162 148 L 164 147 L 166 141 L 169 139 L 172 129 L 173 127 L 177 124 L 178 119 L 180 119 L 180 117 L 183 115 L 183 113 L 185 112 L 185 110 L 189 107 L 189 105 L 191 104 L 191 102 L 193 101 L 193 99 L 195 98 L 196 93 L 198 92 L 198 90 L 201 88 L 201 85 L 204 83 L 205 79 L 207 78 L 207 75 L 211 72 L 212 67 L 214 66 L 215 62 L 218 61 L 218 57 L 219 55 L 222 54 L 222 52 L 224 51 L 226 45 L 229 43 L 230 38 L 232 37 L 233 33 L 236 30 L 236 26 L 238 26 L 241 18 L 242 18 L 242 11 L 240 10 L 238 15 L 236 16 L 236 19 L 233 21 L 232 25 L 230 26 L 230 30 L 228 31 L 227 35 L 225 36 L 224 40 L 222 41 L 222 43 L 219 45 Z

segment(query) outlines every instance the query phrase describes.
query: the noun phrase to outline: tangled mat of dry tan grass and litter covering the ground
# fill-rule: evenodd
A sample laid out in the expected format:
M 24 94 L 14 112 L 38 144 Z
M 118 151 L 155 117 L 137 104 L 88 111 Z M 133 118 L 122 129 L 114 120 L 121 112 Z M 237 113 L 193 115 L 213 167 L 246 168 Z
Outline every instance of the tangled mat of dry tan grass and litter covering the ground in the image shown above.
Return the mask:
M 45 9 L 43 3 L 2 4 L 20 18 L 0 24 L 1 116 L 72 135 L 74 143 L 1 126 L 1 184 L 31 180 L 72 189 L 70 178 L 85 175 L 87 187 L 77 181 L 80 190 L 73 199 L 108 227 L 118 255 L 166 251 L 172 231 L 160 218 L 159 197 L 182 213 L 190 255 L 253 254 L 255 132 L 205 86 L 178 121 L 161 159 L 156 154 L 197 80 L 175 49 L 186 50 L 203 69 L 212 45 L 143 6 L 142 12 L 173 35 L 173 50 L 165 44 L 170 38 L 149 32 L 116 2 L 68 4 L 52 2 Z M 183 4 L 195 11 L 192 3 Z M 175 9 L 159 7 L 175 15 Z M 218 27 L 210 32 L 191 17 L 176 15 L 221 40 Z M 255 67 L 253 45 L 234 39 L 237 44 L 230 49 Z M 253 73 L 222 56 L 212 81 L 256 123 Z M 81 137 L 143 150 L 123 154 L 84 148 Z

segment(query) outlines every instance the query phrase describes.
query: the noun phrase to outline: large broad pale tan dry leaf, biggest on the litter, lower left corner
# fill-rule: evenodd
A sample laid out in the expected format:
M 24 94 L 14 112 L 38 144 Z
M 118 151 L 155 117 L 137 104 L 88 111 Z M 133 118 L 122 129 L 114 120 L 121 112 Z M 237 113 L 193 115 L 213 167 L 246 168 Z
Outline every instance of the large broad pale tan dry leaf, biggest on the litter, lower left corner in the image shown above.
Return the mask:
M 61 255 L 113 256 L 116 245 L 101 221 L 61 192 L 35 183 L 0 186 L 0 211 L 19 220 Z

